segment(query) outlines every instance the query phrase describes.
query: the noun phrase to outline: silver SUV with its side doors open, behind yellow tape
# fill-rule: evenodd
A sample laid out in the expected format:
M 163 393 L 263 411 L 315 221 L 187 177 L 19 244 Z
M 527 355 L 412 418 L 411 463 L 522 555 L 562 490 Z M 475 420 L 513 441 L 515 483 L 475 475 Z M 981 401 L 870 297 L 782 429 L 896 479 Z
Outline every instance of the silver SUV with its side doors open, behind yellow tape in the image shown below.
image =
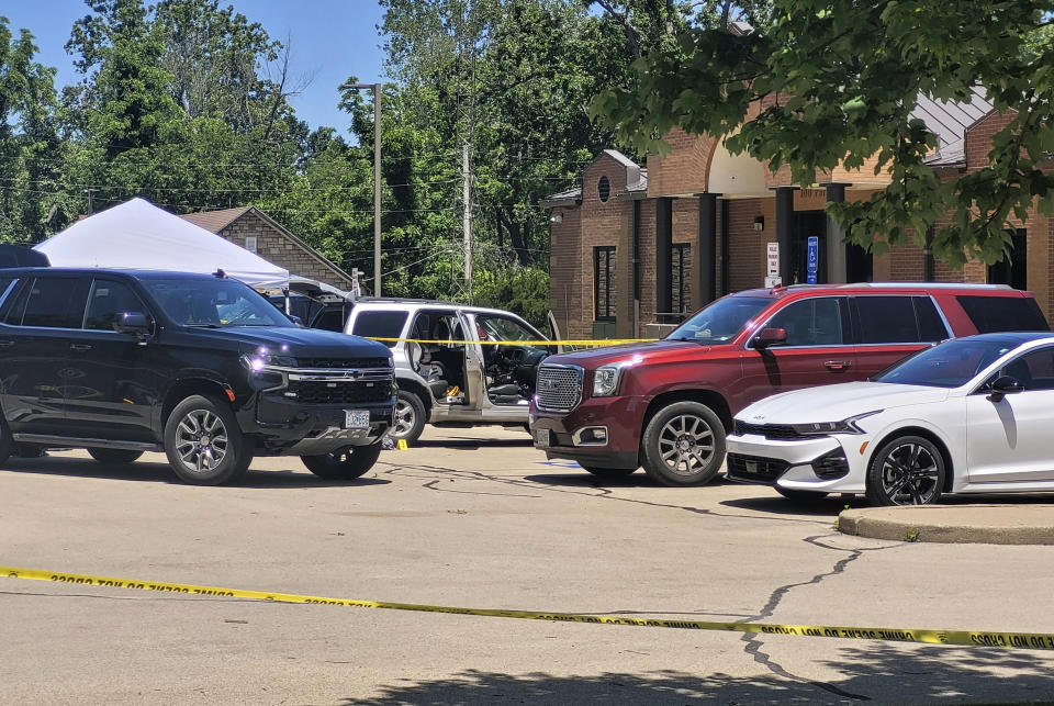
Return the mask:
M 512 312 L 427 300 L 359 299 L 345 333 L 399 339 L 381 343 L 392 349 L 399 383 L 390 434 L 407 442 L 426 423 L 526 429 L 538 363 L 557 352 L 537 345 L 547 337 Z

